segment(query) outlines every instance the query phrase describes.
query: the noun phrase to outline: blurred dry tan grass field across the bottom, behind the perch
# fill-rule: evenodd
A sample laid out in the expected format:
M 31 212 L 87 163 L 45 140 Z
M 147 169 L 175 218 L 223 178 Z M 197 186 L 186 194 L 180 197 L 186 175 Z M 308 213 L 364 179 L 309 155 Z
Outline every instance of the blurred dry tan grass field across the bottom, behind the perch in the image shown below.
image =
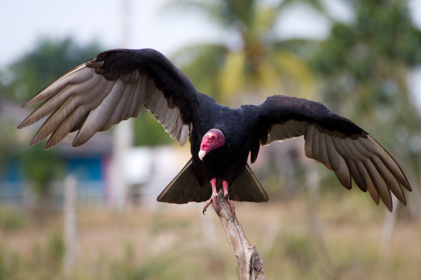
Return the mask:
M 381 255 L 384 207 L 376 207 L 366 194 L 351 191 L 321 198 L 320 230 L 333 265 L 309 232 L 305 198 L 236 205 L 237 217 L 262 257 L 266 279 L 421 277 L 421 222 L 399 219 L 390 253 Z M 215 213 L 203 216 L 201 207 L 162 204 L 123 214 L 81 210 L 80 254 L 70 278 L 238 279 Z M 62 227 L 58 214 L 42 225 L 27 219 L 22 228 L 5 230 L 0 240 L 0 279 L 63 279 L 57 241 Z

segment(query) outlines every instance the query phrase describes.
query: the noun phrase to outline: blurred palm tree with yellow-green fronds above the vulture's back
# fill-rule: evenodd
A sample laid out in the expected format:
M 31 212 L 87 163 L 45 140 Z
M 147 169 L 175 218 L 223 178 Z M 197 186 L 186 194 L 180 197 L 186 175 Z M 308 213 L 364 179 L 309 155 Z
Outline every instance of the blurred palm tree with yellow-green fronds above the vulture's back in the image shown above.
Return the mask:
M 239 93 L 250 97 L 288 92 L 311 98 L 313 79 L 306 63 L 295 53 L 280 47 L 274 36 L 277 16 L 293 2 L 295 0 L 285 0 L 276 7 L 264 7 L 256 0 L 171 2 L 167 10 L 182 8 L 204 13 L 241 41 L 237 49 L 224 44 L 187 47 L 174 59 L 189 58 L 181 68 L 199 91 L 230 105 L 236 103 L 234 100 L 238 99 Z M 323 10 L 318 0 L 301 2 Z

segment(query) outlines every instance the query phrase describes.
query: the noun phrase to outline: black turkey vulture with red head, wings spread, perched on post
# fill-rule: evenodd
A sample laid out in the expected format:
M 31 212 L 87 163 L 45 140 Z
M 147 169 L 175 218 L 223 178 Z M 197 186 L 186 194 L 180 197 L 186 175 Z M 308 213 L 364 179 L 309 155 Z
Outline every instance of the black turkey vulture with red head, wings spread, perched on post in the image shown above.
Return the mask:
M 192 158 L 158 196 L 157 201 L 184 204 L 207 201 L 203 213 L 222 189 L 232 201 L 268 201 L 247 164 L 260 145 L 303 136 L 309 158 L 332 170 L 351 189 L 351 178 L 378 205 L 392 211 L 390 191 L 406 205 L 411 187 L 393 157 L 352 121 L 318 102 L 276 95 L 261 105 L 229 108 L 197 91 L 181 70 L 152 49 L 101 52 L 51 82 L 22 107 L 38 106 L 18 128 L 51 115 L 31 145 L 48 139 L 45 149 L 78 131 L 73 147 L 128 118 L 142 107 L 151 112 L 180 146 L 190 141 Z M 232 199 L 232 200 L 231 200 Z

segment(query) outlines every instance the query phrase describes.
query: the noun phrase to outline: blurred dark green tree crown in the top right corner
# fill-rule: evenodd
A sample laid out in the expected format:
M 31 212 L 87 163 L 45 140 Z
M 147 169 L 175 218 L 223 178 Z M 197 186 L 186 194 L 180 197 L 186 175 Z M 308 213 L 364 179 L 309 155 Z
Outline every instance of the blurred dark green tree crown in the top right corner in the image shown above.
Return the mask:
M 346 72 L 356 82 L 379 82 L 393 76 L 381 73 L 383 64 L 414 66 L 421 62 L 421 32 L 413 26 L 405 2 L 357 1 L 356 7 L 355 24 L 333 26 L 310 61 L 313 70 L 325 76 Z

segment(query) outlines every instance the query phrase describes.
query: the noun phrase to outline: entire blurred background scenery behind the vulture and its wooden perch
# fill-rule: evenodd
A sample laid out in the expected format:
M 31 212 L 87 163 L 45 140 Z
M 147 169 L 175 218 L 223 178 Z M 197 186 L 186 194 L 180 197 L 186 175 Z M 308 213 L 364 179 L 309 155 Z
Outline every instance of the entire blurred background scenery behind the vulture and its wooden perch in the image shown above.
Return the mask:
M 0 279 L 238 279 L 213 211 L 156 202 L 191 155 L 147 110 L 78 148 L 16 129 L 45 85 L 122 47 L 159 50 L 226 106 L 322 102 L 404 170 L 413 192 L 389 213 L 304 139 L 262 147 L 270 201 L 236 208 L 266 279 L 420 279 L 421 1 L 19 0 L 0 24 Z

